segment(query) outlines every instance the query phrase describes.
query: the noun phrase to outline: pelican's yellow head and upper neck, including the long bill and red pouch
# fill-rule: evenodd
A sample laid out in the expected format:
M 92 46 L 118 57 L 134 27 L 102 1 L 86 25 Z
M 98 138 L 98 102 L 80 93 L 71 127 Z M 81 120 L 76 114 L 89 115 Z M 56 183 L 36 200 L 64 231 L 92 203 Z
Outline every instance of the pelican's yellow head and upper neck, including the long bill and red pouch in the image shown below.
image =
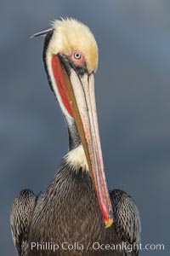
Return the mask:
M 54 20 L 50 29 L 35 36 L 42 34 L 46 34 L 43 61 L 49 84 L 65 115 L 69 133 L 82 144 L 105 226 L 110 227 L 113 213 L 105 182 L 94 96 L 97 43 L 88 26 L 74 19 Z

